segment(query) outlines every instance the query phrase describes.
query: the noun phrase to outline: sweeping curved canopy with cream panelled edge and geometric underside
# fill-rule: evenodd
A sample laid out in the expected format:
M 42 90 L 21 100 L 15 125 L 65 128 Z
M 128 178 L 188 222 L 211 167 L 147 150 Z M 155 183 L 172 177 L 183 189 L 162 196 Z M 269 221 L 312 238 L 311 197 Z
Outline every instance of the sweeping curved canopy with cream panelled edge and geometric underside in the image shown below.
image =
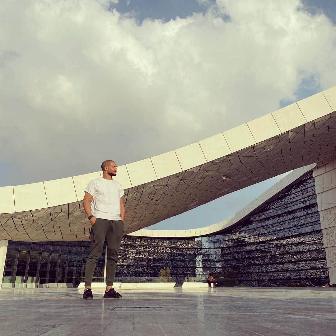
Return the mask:
M 335 111 L 336 86 L 175 151 L 119 166 L 125 234 L 286 171 L 335 160 Z M 0 239 L 89 240 L 83 190 L 100 176 L 0 187 Z

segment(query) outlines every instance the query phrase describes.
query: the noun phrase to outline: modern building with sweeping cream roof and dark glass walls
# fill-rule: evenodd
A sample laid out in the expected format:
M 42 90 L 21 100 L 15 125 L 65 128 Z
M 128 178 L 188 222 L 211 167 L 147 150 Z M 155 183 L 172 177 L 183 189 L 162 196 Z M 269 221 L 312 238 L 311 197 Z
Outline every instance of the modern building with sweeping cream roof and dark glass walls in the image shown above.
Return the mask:
M 336 87 L 211 138 L 118 167 L 125 234 L 117 276 L 213 272 L 252 286 L 336 283 Z M 236 215 L 191 230 L 146 226 L 291 171 Z M 3 287 L 83 278 L 84 187 L 100 172 L 0 187 Z M 205 225 L 208 223 L 205 223 Z M 95 277 L 104 278 L 104 255 Z

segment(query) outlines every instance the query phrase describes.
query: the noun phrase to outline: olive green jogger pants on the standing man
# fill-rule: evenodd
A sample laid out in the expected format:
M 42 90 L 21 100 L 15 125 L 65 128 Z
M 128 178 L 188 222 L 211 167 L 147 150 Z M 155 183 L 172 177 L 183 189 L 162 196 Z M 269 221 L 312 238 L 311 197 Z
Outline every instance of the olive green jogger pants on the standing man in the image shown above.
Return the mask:
M 109 220 L 96 218 L 90 230 L 90 253 L 85 265 L 85 286 L 91 286 L 92 277 L 97 261 L 101 256 L 106 241 L 107 264 L 106 285 L 113 286 L 116 275 L 117 260 L 121 238 L 123 237 L 125 224 L 122 220 Z

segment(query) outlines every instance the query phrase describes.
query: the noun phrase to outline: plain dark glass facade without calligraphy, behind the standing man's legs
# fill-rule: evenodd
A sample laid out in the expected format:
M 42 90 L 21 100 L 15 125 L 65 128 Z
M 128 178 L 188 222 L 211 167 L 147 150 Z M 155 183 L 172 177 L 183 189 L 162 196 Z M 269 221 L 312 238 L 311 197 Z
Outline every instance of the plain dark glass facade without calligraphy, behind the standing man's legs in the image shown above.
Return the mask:
M 89 242 L 9 241 L 2 288 L 77 287 L 84 279 L 89 249 Z M 93 282 L 104 281 L 104 260 L 105 244 Z

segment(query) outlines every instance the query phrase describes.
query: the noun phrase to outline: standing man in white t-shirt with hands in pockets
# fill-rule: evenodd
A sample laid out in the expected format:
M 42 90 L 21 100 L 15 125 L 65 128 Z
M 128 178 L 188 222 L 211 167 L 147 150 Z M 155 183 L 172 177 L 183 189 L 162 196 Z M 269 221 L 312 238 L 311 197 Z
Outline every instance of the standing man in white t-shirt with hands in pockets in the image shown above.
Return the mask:
M 116 274 L 120 241 L 125 229 L 125 204 L 122 185 L 112 176 L 117 176 L 117 165 L 112 160 L 101 164 L 103 176 L 89 182 L 85 188 L 83 206 L 89 217 L 90 253 L 85 265 L 85 289 L 83 299 L 92 299 L 91 282 L 97 260 L 106 241 L 106 291 L 104 298 L 121 298 L 112 287 Z

